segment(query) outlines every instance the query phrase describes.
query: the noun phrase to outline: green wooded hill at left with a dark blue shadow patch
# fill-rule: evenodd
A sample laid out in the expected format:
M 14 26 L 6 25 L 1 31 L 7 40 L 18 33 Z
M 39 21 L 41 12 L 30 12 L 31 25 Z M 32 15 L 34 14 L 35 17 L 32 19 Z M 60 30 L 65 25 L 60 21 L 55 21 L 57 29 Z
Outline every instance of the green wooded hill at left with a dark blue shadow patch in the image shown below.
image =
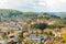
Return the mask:
M 0 22 L 10 21 L 29 21 L 32 18 L 37 16 L 37 13 L 21 12 L 11 9 L 0 9 Z

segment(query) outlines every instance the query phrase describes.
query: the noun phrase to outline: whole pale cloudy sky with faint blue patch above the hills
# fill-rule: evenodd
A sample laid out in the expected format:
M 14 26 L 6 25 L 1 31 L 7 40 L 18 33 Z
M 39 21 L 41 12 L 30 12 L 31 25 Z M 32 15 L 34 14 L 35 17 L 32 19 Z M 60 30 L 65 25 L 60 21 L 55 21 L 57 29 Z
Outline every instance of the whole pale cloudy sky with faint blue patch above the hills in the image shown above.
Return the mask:
M 24 12 L 66 12 L 66 0 L 0 0 L 0 9 Z

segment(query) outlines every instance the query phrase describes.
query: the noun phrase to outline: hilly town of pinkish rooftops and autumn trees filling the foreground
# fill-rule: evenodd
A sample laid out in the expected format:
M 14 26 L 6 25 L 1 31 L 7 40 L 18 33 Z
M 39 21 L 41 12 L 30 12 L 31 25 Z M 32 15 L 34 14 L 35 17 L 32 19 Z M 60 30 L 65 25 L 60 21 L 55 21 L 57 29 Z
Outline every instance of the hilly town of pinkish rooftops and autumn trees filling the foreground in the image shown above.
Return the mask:
M 48 13 L 0 10 L 1 44 L 66 44 L 66 20 Z

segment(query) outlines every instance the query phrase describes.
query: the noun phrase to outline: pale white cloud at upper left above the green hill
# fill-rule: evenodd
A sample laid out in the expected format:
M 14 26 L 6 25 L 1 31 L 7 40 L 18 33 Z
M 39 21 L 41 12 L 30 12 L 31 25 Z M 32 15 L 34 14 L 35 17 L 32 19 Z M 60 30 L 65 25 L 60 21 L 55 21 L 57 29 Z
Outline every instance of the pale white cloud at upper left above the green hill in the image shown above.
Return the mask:
M 0 0 L 0 8 L 18 8 L 25 6 L 26 0 Z

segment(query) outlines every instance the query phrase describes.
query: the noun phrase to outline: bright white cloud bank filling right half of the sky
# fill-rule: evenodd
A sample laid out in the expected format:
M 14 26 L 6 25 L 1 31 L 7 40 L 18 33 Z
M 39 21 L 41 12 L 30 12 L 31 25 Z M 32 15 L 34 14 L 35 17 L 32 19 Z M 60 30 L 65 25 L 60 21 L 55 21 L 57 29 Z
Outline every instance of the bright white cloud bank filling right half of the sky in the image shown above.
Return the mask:
M 44 4 L 45 6 L 42 6 Z M 66 11 L 66 0 L 41 0 L 38 2 L 42 7 L 36 7 L 34 9 L 40 10 L 40 11 L 46 11 L 46 12 L 65 12 Z

